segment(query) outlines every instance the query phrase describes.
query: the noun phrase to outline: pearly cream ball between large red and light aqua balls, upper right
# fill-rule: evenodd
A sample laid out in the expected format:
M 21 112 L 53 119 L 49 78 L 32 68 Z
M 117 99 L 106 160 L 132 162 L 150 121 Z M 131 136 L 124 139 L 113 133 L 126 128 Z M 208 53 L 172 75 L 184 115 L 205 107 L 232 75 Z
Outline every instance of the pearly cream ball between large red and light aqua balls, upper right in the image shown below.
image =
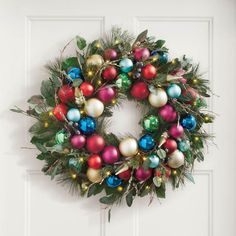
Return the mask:
M 149 94 L 148 101 L 153 107 L 163 107 L 166 105 L 168 97 L 164 89 L 158 88 Z

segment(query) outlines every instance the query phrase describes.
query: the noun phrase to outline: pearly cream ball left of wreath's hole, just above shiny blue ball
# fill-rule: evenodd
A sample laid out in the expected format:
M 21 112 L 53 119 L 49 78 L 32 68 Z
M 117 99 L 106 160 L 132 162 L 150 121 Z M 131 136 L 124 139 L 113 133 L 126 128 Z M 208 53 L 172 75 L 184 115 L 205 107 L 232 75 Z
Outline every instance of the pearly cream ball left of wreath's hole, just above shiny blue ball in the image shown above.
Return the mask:
M 85 103 L 84 111 L 91 117 L 99 117 L 104 111 L 104 105 L 97 98 L 90 98 Z

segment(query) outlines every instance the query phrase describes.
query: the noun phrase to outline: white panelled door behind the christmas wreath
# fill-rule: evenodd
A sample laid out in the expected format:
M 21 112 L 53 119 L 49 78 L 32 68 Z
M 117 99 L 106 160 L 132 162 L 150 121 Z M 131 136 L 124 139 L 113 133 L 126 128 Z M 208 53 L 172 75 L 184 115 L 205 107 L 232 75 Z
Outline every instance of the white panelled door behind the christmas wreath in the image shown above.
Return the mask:
M 0 0 L 0 235 L 235 236 L 235 16 L 234 0 Z M 47 76 L 44 64 L 72 37 L 92 40 L 112 25 L 149 29 L 172 55 L 193 57 L 220 97 L 210 101 L 219 114 L 210 129 L 218 147 L 196 166 L 196 184 L 170 189 L 150 207 L 147 198 L 114 207 L 108 223 L 97 198 L 72 197 L 41 174 L 37 152 L 21 149 L 32 147 L 32 120 L 9 109 L 25 108 Z

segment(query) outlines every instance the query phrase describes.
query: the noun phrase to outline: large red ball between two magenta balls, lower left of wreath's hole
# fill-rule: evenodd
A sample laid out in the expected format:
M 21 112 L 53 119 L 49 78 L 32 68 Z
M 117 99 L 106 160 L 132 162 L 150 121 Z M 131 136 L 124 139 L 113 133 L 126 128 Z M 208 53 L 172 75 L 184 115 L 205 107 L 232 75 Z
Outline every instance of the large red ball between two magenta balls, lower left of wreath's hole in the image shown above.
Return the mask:
M 105 140 L 98 134 L 93 134 L 87 138 L 86 148 L 91 153 L 99 153 L 105 147 Z

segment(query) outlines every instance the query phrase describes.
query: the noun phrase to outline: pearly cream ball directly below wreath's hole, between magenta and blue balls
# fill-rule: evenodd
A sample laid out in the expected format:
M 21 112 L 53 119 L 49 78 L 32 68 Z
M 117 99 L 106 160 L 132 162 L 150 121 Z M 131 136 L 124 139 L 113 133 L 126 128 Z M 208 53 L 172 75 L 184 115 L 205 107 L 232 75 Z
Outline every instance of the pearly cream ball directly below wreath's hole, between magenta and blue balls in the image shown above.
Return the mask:
M 125 138 L 119 144 L 119 150 L 125 157 L 132 157 L 138 152 L 138 143 L 134 138 Z

